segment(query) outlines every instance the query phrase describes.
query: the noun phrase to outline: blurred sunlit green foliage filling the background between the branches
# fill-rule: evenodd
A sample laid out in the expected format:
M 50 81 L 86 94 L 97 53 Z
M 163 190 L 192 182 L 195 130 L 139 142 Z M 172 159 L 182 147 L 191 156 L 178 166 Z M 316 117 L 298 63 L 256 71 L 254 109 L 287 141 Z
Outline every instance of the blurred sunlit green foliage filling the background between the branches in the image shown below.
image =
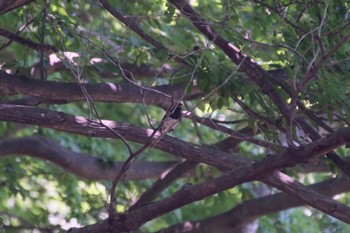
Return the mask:
M 196 88 L 201 93 L 200 98 L 189 98 L 186 101 L 187 111 L 221 121 L 221 125 L 231 130 L 239 131 L 249 127 L 251 135 L 256 135 L 257 139 L 286 145 L 281 132 L 276 131 L 276 128 L 289 127 L 278 106 L 241 70 L 240 64 L 233 64 L 224 51 L 199 32 L 174 5 L 166 1 L 109 2 L 166 49 L 157 48 L 141 38 L 131 27 L 112 16 L 98 1 L 34 1 L 1 15 L 0 28 L 16 33 L 25 27 L 18 33 L 21 37 L 35 43 L 53 45 L 59 50 L 56 56 L 62 59 L 63 68 L 48 72 L 47 81 L 132 83 L 147 88 L 185 83 L 184 95 L 190 96 Z M 317 75 L 301 89 L 298 101 L 307 110 L 320 115 L 322 113 L 323 120 L 335 123 L 334 130 L 349 124 L 350 43 L 343 43 L 340 49 L 331 53 L 337 43 L 350 32 L 350 5 L 347 1 L 190 2 L 210 22 L 211 27 L 242 49 L 262 68 L 271 72 L 282 71 L 279 76 L 271 75 L 271 79 L 285 82 L 295 91 L 310 70 L 318 69 Z M 41 64 L 49 71 L 53 66 L 50 54 L 16 42 L 6 45 L 8 41 L 5 37 L 0 37 L 1 70 L 40 79 L 40 75 L 35 77 L 31 73 L 33 67 Z M 67 56 L 64 52 L 72 54 Z M 73 57 L 76 55 L 79 56 Z M 326 60 L 323 61 L 325 56 Z M 182 66 L 179 60 L 187 65 Z M 122 66 L 119 67 L 118 64 L 132 64 L 136 68 L 147 65 L 147 69 L 155 72 L 153 76 L 146 72 L 144 75 L 135 73 L 127 79 Z M 171 71 L 161 72 L 165 64 Z M 291 102 L 288 90 L 280 86 L 275 89 L 283 101 L 288 104 Z M 3 99 L 4 102 L 10 102 L 22 97 L 6 96 Z M 247 113 L 238 101 L 242 101 L 261 118 Z M 127 122 L 143 128 L 150 128 L 147 114 L 154 127 L 157 127 L 165 114 L 159 106 L 98 101 L 90 103 L 88 98 L 86 101 L 67 104 L 41 104 L 40 107 L 89 119 L 100 117 Z M 298 107 L 296 111 L 304 113 Z M 275 123 L 274 127 L 266 125 L 263 119 L 271 120 Z M 292 130 L 292 136 L 298 138 L 298 126 L 293 125 Z M 86 137 L 10 122 L 1 122 L 0 133 L 4 139 L 41 135 L 71 151 L 86 153 L 111 164 L 125 161 L 129 156 L 124 143 L 115 139 Z M 216 143 L 227 137 L 224 132 L 202 127 L 190 119 L 184 119 L 170 135 L 209 147 L 215 147 Z M 303 139 L 298 139 L 302 144 Z M 141 147 L 134 142 L 129 145 L 133 150 Z M 238 147 L 231 148 L 231 152 L 238 153 L 243 158 L 260 159 L 275 151 L 243 142 Z M 343 147 L 338 152 L 346 157 L 349 150 Z M 152 148 L 145 150 L 138 160 L 180 161 L 176 156 Z M 0 217 L 5 226 L 10 226 L 9 232 L 20 232 L 23 229 L 31 232 L 33 228 L 66 230 L 69 227 L 94 224 L 107 217 L 110 180 L 81 178 L 51 162 L 22 154 L 1 158 L 0 171 Z M 221 171 L 200 165 L 194 173 L 179 178 L 157 200 L 171 196 L 186 183 L 200 184 L 217 177 Z M 300 178 L 297 172 L 291 172 L 291 175 L 295 179 Z M 311 176 L 312 180 L 322 181 L 332 175 L 334 174 L 323 173 Z M 155 179 L 121 181 L 117 188 L 117 210 L 127 211 L 154 182 Z M 141 230 L 153 232 L 176 223 L 213 217 L 259 196 L 254 188 L 247 187 L 246 184 L 236 186 L 154 219 Z M 342 200 L 349 204 L 348 194 L 344 194 Z M 264 216 L 259 224 L 257 232 L 349 230 L 344 223 L 322 212 L 311 211 L 308 207 Z

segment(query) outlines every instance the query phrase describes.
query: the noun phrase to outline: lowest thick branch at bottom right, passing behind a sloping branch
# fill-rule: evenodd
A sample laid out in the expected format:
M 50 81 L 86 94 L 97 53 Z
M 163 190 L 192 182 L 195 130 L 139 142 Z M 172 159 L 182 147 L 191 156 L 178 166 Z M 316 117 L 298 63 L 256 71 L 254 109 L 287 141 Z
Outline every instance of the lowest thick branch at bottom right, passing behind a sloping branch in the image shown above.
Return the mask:
M 348 177 L 330 179 L 318 184 L 310 185 L 308 188 L 328 197 L 332 197 L 336 194 L 350 191 L 350 181 Z M 235 208 L 211 218 L 177 224 L 159 232 L 205 233 L 213 232 L 214 230 L 221 231 L 221 229 L 230 229 L 231 232 L 236 232 L 238 227 L 252 222 L 261 216 L 294 208 L 303 204 L 304 203 L 300 200 L 286 193 L 277 193 L 242 202 Z

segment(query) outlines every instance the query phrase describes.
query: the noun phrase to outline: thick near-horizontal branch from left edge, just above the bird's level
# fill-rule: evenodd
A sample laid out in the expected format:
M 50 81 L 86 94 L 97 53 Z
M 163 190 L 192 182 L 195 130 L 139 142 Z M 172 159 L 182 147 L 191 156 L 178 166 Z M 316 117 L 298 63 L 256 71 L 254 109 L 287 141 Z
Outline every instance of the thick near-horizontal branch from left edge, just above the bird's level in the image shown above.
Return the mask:
M 158 86 L 153 88 L 154 91 L 133 84 L 117 83 L 86 83 L 84 87 L 93 101 L 146 103 L 163 108 L 171 106 L 172 99 L 162 93 L 169 94 L 175 99 L 184 95 L 182 84 Z M 18 94 L 38 97 L 41 103 L 86 100 L 78 83 L 34 80 L 0 71 L 0 96 Z

